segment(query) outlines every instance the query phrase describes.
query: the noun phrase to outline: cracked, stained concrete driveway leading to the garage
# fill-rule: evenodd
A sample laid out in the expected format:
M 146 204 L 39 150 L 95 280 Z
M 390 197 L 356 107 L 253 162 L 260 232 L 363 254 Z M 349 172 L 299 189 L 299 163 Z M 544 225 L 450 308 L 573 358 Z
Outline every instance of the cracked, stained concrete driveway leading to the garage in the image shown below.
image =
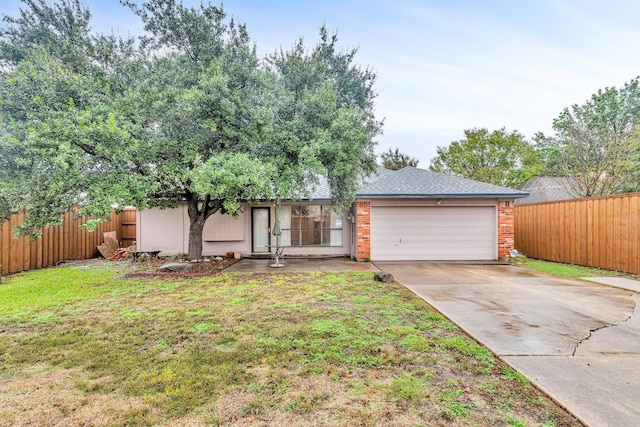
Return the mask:
M 592 426 L 640 425 L 640 295 L 507 265 L 376 263 Z

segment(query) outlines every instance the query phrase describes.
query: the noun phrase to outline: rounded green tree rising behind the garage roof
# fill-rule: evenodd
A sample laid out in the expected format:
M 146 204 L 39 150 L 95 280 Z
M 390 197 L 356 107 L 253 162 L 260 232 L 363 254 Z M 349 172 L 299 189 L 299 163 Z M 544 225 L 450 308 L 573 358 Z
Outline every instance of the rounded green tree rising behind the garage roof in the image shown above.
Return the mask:
M 538 175 L 542 164 L 533 145 L 504 128 L 465 130 L 465 139 L 438 147 L 429 169 L 494 185 L 516 187 Z

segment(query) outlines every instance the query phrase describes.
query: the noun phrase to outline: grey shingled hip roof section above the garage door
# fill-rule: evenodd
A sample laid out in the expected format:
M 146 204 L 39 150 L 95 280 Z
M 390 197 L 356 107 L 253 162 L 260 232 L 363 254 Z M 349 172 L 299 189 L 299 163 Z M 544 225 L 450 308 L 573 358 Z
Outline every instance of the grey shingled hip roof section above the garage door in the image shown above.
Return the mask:
M 514 190 L 457 176 L 445 175 L 407 166 L 399 171 L 382 174 L 358 190 L 363 198 L 495 198 L 527 197 L 525 191 Z

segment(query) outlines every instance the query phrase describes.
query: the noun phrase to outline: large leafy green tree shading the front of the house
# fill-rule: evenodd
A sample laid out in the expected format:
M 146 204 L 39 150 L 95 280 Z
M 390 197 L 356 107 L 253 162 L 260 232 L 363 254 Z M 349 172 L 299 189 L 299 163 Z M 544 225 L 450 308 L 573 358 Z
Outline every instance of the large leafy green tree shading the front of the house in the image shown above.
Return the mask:
M 302 197 L 317 175 L 344 207 L 375 168 L 375 75 L 324 28 L 314 49 L 260 60 L 246 28 L 210 4 L 123 1 L 144 24 L 138 43 L 93 35 L 79 0 L 26 4 L 0 34 L 17 52 L 0 75 L 0 162 L 16 166 L 0 207 L 26 210 L 21 233 L 77 205 L 100 221 L 113 206 L 184 201 L 195 259 L 213 213 Z M 43 29 L 51 41 L 32 36 Z

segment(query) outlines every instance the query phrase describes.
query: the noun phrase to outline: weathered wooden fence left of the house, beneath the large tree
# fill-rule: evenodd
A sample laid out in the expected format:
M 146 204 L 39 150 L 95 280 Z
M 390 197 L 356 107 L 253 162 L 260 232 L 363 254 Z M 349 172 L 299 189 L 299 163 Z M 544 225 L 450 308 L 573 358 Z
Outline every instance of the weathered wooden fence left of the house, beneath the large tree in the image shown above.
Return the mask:
M 103 222 L 93 232 L 81 227 L 85 220 L 74 221 L 73 214 L 67 214 L 61 226 L 44 228 L 42 237 L 34 241 L 29 241 L 28 237 L 15 238 L 13 228 L 23 219 L 24 214 L 16 214 L 2 224 L 2 274 L 50 267 L 58 261 L 95 258 L 99 255 L 96 247 L 102 243 L 102 233 L 106 231 L 115 231 L 123 246 L 131 245 L 136 239 L 135 209 L 112 213 L 111 220 Z

